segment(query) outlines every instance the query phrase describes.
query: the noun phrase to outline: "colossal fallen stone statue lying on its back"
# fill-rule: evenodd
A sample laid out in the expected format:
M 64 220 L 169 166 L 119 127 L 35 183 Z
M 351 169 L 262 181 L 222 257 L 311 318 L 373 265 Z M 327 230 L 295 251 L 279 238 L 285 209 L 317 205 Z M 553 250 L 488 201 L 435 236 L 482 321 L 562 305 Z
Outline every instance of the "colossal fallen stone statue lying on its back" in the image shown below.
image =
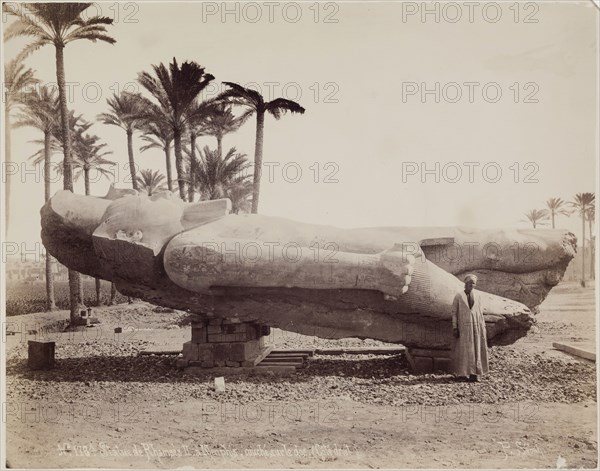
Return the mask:
M 41 215 L 43 243 L 60 263 L 195 313 L 194 345 L 211 335 L 260 340 L 264 329 L 235 327 L 244 324 L 448 349 L 466 273 L 478 276 L 489 344 L 506 345 L 526 335 L 576 250 L 561 230 L 341 229 L 230 214 L 227 199 L 114 188 L 102 198 L 59 191 Z M 197 365 L 229 365 L 194 352 Z

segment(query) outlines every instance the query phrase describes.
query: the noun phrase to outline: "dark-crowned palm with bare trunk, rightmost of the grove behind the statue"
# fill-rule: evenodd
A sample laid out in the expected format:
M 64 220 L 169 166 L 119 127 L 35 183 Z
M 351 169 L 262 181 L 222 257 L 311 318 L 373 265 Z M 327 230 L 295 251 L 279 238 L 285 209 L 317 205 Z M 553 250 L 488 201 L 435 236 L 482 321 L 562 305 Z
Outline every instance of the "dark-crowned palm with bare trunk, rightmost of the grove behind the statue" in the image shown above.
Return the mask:
M 218 97 L 224 103 L 246 106 L 247 110 L 240 116 L 245 121 L 249 116 L 256 113 L 256 141 L 254 147 L 254 187 L 252 190 L 252 213 L 258 212 L 258 199 L 260 195 L 260 177 L 262 168 L 263 136 L 265 127 L 265 114 L 269 113 L 279 119 L 282 114 L 290 111 L 292 113 L 304 113 L 304 108 L 292 100 L 275 98 L 265 102 L 262 95 L 250 88 L 242 87 L 233 82 L 223 82 L 229 87 Z

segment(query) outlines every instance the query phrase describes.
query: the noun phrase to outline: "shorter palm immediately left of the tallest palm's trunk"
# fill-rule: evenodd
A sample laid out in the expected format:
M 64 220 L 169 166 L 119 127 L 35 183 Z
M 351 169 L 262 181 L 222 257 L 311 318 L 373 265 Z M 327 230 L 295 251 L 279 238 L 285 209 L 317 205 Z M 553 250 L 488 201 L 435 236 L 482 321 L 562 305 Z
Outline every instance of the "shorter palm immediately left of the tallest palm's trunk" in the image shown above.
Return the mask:
M 32 91 L 27 97 L 26 106 L 17 115 L 14 127 L 32 127 L 44 134 L 44 200 L 50 199 L 50 166 L 52 157 L 52 133 L 56 128 L 58 116 L 58 97 L 54 89 L 40 87 Z M 54 273 L 52 266 L 55 263 L 50 254 L 46 254 L 46 311 L 56 309 L 54 297 Z

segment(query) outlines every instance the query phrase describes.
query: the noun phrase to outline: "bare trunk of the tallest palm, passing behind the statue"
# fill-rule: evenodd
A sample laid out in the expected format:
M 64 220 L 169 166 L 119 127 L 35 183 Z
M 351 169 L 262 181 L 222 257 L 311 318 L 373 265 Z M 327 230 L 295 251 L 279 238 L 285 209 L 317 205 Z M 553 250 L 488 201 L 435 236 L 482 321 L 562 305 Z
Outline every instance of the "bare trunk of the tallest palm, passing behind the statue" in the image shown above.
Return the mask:
M 60 101 L 60 120 L 63 136 L 63 187 L 65 190 L 73 191 L 73 175 L 71 160 L 71 136 L 69 129 L 69 110 L 67 109 L 67 91 L 65 82 L 65 59 L 64 45 L 55 44 L 56 48 L 56 82 L 58 83 L 58 97 Z M 69 301 L 71 324 L 75 325 L 79 320 L 79 311 L 83 304 L 80 292 L 81 275 L 75 270 L 69 270 Z

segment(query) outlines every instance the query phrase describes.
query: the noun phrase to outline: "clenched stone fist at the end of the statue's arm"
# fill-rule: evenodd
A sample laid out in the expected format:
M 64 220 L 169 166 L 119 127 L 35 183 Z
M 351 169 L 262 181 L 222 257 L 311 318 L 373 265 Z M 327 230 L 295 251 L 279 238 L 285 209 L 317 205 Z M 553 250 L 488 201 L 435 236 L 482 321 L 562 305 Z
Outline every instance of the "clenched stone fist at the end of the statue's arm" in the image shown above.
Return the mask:
M 411 247 L 412 249 L 412 247 Z M 408 291 L 415 267 L 415 256 L 407 247 L 396 244 L 379 255 L 383 276 L 380 291 L 386 300 L 394 301 Z

